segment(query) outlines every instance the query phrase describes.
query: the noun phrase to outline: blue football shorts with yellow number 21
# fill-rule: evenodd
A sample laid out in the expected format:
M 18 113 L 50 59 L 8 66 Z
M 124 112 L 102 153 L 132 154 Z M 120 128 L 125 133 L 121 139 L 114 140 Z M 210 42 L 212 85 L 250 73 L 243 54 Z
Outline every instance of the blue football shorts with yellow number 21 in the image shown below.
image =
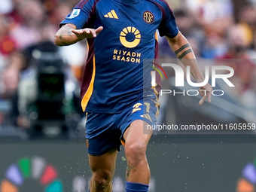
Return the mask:
M 134 120 L 144 120 L 154 126 L 157 122 L 159 107 L 158 98 L 152 93 L 117 114 L 87 112 L 88 153 L 100 156 L 114 148 L 120 151 L 121 142 L 124 142 L 123 133 L 130 126 L 130 123 Z

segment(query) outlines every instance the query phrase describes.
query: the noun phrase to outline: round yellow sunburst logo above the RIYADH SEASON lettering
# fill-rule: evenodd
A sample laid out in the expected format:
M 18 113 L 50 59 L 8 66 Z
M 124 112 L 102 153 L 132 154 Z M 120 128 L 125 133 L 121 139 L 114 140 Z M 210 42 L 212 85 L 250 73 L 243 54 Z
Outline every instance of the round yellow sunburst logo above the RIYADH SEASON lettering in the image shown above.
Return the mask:
M 133 36 L 132 41 L 127 41 L 127 36 Z M 124 47 L 133 48 L 136 47 L 139 42 L 141 41 L 141 33 L 138 29 L 133 26 L 127 26 L 120 32 L 120 42 L 123 44 Z

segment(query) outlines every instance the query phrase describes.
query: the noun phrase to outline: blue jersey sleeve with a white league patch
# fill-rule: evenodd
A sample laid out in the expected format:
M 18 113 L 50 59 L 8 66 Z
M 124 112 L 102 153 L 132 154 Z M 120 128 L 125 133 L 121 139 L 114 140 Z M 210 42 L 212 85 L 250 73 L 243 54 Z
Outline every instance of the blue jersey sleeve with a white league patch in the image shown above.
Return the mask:
M 67 15 L 65 20 L 62 20 L 59 26 L 67 23 L 72 23 L 77 27 L 77 29 L 82 29 L 90 19 L 91 14 L 93 13 L 94 3 L 94 0 L 81 0 L 81 2 L 79 2 L 78 5 L 75 6 L 72 13 Z

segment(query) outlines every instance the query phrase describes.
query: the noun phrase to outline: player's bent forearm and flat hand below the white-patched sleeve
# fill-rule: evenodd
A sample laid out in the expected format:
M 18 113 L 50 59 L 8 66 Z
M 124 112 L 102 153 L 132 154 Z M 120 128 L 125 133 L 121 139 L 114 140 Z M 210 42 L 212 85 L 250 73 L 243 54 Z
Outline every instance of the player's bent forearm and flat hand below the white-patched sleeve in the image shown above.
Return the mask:
M 84 38 L 96 38 L 96 36 L 103 29 L 99 26 L 97 29 L 77 29 L 72 23 L 63 25 L 58 32 L 56 32 L 54 43 L 58 46 L 65 46 L 69 44 L 75 44 Z

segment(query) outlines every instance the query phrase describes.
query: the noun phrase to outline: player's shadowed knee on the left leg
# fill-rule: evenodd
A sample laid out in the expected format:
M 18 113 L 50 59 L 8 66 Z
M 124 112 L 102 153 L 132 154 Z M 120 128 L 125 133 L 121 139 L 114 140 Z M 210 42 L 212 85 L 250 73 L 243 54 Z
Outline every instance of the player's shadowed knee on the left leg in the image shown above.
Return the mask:
M 93 172 L 93 184 L 96 191 L 105 190 L 111 183 L 112 174 L 108 170 L 97 170 Z

